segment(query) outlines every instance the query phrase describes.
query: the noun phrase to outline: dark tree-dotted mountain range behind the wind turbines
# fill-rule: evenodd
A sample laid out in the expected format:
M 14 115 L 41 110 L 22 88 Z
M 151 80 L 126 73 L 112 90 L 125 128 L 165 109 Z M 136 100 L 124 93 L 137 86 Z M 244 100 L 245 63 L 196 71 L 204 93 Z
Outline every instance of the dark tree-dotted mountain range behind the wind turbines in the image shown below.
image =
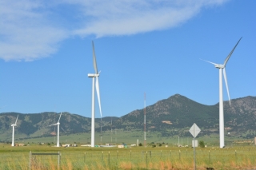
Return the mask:
M 55 135 L 52 125 L 58 121 L 58 114 L 46 113 L 0 113 L 0 140 L 11 140 L 11 124 L 18 115 L 15 134 L 22 138 Z M 112 120 L 112 125 L 111 125 Z M 256 133 L 256 97 L 242 97 L 224 101 L 225 132 L 232 136 L 253 138 Z M 137 109 L 122 117 L 102 117 L 102 131 L 113 129 L 143 131 L 144 109 Z M 62 113 L 61 134 L 90 132 L 90 118 Z M 218 134 L 218 104 L 202 105 L 196 101 L 175 94 L 146 107 L 146 131 L 161 132 L 162 136 L 190 136 L 188 129 L 196 123 L 202 136 Z M 101 119 L 95 119 L 95 131 L 100 132 Z

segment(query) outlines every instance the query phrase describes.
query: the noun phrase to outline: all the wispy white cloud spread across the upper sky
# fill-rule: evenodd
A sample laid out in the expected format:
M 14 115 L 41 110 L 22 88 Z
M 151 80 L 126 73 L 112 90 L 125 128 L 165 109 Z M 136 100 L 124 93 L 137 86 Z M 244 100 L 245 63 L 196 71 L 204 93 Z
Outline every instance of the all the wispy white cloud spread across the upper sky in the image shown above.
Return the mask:
M 226 0 L 0 0 L 0 58 L 33 61 L 73 35 L 139 34 L 181 25 Z M 72 12 L 69 12 L 72 11 Z

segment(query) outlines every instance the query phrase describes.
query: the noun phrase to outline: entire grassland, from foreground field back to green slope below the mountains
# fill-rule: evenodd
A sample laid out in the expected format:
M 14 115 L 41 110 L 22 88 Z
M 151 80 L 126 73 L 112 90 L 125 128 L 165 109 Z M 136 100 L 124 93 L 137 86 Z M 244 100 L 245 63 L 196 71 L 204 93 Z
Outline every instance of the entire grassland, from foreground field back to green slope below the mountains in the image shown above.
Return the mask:
M 112 142 L 111 142 L 112 136 Z M 118 131 L 95 134 L 96 144 L 121 144 L 128 146 L 142 140 L 143 132 Z M 147 132 L 147 144 L 142 147 L 128 148 L 88 148 L 82 144 L 90 143 L 90 133 L 61 134 L 61 144 L 77 144 L 78 147 L 56 148 L 56 136 L 35 137 L 30 139 L 17 138 L 15 144 L 27 146 L 11 147 L 10 144 L 0 144 L 1 170 L 188 170 L 194 169 L 194 150 L 191 148 L 192 137 L 179 137 L 179 143 L 189 147 L 178 148 L 178 136 L 164 137 L 159 132 Z M 239 140 L 234 136 L 226 136 L 226 148 L 218 148 L 218 134 L 216 136 L 200 136 L 206 148 L 196 148 L 197 169 L 256 169 L 256 147 L 252 140 Z M 44 143 L 44 144 L 42 144 Z M 157 147 L 152 148 L 150 143 Z M 48 145 L 50 144 L 50 145 Z M 158 144 L 162 144 L 161 147 Z M 166 147 L 168 145 L 168 147 Z M 57 155 L 32 155 L 32 153 L 61 153 L 58 167 Z

